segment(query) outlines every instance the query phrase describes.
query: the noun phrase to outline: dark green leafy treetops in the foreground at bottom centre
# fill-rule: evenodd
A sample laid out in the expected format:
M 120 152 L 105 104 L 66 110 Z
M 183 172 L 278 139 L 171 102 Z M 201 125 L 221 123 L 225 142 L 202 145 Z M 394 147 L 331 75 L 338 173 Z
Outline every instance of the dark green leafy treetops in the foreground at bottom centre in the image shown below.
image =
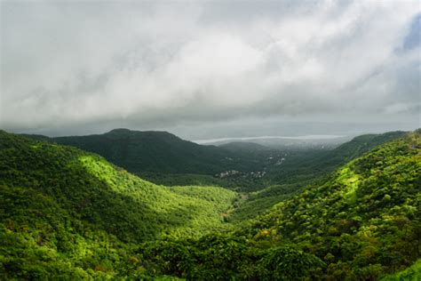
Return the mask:
M 298 280 L 315 277 L 324 265 L 290 245 L 267 248 L 232 235 L 155 241 L 142 245 L 139 253 L 147 269 L 188 280 Z

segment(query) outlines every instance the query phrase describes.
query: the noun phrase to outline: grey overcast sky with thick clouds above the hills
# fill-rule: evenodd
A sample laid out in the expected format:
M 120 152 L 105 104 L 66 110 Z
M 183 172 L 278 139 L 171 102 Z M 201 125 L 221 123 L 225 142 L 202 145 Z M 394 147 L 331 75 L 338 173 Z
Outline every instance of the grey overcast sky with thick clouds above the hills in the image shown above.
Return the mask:
M 415 129 L 419 1 L 3 1 L 0 127 Z M 298 129 L 299 128 L 299 129 Z

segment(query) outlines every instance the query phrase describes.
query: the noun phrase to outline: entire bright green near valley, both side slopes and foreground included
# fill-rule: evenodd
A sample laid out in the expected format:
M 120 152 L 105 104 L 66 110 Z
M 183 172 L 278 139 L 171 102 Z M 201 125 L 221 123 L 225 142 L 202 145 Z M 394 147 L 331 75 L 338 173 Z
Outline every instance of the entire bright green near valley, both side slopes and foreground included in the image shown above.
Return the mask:
M 0 279 L 417 278 L 421 138 L 398 137 L 321 156 L 342 165 L 329 175 L 308 178 L 316 164 L 303 165 L 236 193 L 156 185 L 98 155 L 0 132 Z

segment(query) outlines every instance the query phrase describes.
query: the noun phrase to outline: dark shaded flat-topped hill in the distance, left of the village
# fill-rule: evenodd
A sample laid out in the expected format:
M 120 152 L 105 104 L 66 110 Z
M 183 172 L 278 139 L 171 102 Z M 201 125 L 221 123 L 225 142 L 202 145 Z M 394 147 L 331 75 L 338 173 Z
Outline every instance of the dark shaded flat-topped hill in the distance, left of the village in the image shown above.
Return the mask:
M 98 153 L 132 173 L 220 173 L 228 169 L 249 171 L 245 157 L 214 146 L 184 141 L 169 132 L 115 129 L 99 135 L 53 138 L 60 144 Z

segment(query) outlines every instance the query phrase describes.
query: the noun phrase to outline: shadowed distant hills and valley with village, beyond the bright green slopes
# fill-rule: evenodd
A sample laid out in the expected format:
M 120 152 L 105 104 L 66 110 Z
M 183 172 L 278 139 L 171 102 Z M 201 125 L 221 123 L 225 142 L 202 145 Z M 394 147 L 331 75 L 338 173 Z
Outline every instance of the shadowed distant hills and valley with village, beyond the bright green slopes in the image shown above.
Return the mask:
M 333 150 L 279 150 L 238 141 L 219 147 L 203 146 L 181 140 L 169 132 L 127 129 L 88 136 L 26 136 L 97 153 L 114 165 L 156 184 L 218 185 L 250 192 L 284 184 L 302 187 L 404 133 L 362 135 Z

